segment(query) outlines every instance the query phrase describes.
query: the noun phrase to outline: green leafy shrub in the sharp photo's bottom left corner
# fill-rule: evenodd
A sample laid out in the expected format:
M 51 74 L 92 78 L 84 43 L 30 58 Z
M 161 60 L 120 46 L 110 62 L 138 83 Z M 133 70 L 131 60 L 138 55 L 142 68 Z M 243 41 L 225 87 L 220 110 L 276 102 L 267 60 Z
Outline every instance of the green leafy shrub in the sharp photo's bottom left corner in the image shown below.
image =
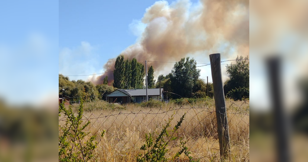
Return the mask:
M 59 161 L 60 162 L 86 162 L 93 157 L 93 151 L 99 141 L 102 139 L 105 131 L 100 134 L 100 140 L 96 135 L 84 142 L 84 138 L 90 133 L 84 129 L 90 124 L 90 121 L 83 123 L 83 101 L 80 102 L 77 116 L 74 115 L 71 106 L 68 110 L 64 104 L 59 105 L 59 116 L 61 112 L 66 118 L 65 124 L 59 124 Z

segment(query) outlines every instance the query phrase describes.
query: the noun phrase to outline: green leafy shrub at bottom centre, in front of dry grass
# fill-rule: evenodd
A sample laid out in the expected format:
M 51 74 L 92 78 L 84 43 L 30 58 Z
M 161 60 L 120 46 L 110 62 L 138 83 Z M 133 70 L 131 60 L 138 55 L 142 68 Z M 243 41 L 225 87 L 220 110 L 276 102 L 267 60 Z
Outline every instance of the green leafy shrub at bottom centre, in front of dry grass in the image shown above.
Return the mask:
M 186 113 L 185 113 L 186 114 Z M 180 150 L 176 152 L 170 158 L 167 158 L 166 155 L 168 153 L 167 146 L 171 141 L 175 141 L 178 137 L 174 137 L 174 133 L 180 128 L 181 123 L 184 120 L 185 114 L 180 118 L 180 121 L 173 127 L 171 131 L 167 129 L 170 127 L 170 123 L 173 120 L 173 115 L 168 119 L 167 124 L 163 127 L 160 134 L 158 134 L 157 138 L 154 139 L 152 134 L 146 134 L 146 143 L 141 146 L 140 150 L 144 151 L 144 153 L 140 153 L 137 155 L 137 162 L 167 162 L 174 161 L 176 158 L 184 153 L 185 156 L 188 157 L 189 162 L 194 162 L 193 157 L 189 156 L 191 152 L 187 151 L 187 147 L 185 146 L 187 141 L 183 141 L 180 138 L 180 145 L 176 145 L 176 147 L 180 147 Z M 199 161 L 199 160 L 198 160 Z

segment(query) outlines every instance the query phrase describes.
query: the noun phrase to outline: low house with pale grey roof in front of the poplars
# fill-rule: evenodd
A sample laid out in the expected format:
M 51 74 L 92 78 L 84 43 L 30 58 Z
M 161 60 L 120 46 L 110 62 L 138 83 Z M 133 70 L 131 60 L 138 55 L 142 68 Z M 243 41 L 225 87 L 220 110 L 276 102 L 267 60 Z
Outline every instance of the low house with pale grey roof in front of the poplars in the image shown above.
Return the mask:
M 164 99 L 164 89 L 161 88 L 161 99 Z M 159 88 L 148 89 L 148 99 L 159 100 Z M 146 100 L 146 89 L 124 90 L 116 89 L 106 95 L 106 101 L 117 103 L 142 102 Z

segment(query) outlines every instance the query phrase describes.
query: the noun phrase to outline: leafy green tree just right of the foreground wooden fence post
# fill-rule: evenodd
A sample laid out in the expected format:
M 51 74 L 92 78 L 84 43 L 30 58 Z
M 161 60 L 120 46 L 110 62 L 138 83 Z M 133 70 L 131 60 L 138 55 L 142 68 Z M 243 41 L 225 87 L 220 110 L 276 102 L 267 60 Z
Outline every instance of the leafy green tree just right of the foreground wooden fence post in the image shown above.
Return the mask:
M 237 56 L 236 64 L 227 65 L 227 72 L 229 79 L 224 85 L 225 96 L 234 100 L 249 98 L 249 61 Z

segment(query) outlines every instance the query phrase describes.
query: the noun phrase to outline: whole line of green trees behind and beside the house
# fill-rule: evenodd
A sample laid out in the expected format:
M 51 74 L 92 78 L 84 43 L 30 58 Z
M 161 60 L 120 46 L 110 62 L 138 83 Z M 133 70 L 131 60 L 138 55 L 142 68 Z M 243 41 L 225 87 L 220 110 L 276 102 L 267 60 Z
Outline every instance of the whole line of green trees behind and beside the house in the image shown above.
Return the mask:
M 245 59 L 248 59 L 248 56 Z M 168 75 L 159 75 L 157 82 L 154 80 L 154 68 L 150 66 L 148 67 L 148 88 L 161 87 L 164 88 L 164 91 L 176 94 L 166 93 L 165 97 L 167 98 L 212 98 L 213 83 L 207 85 L 204 79 L 199 78 L 200 69 L 197 69 L 196 65 L 197 62 L 193 58 L 182 58 L 174 64 Z M 235 100 L 249 98 L 249 61 L 244 60 L 242 56 L 237 56 L 236 63 L 227 65 L 226 70 L 229 78 L 224 83 L 225 96 Z M 124 56 L 119 55 L 115 61 L 113 76 L 112 86 L 107 85 L 107 76 L 104 78 L 103 84 L 95 86 L 93 83 L 83 80 L 70 81 L 68 77 L 59 74 L 59 95 L 85 96 L 85 100 L 95 100 L 103 99 L 102 95 L 107 95 L 117 88 L 145 88 L 144 65 L 139 63 L 136 58 L 124 60 Z

